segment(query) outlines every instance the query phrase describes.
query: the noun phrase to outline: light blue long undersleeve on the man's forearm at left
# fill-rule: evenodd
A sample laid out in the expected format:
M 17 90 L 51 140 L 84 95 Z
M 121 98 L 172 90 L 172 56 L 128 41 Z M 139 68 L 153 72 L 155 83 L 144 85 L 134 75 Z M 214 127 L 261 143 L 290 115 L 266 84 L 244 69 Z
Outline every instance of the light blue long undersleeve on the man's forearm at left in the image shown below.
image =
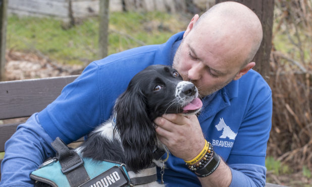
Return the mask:
M 33 186 L 30 173 L 48 157 L 54 155 L 53 140 L 33 114 L 5 144 L 5 157 L 1 163 L 0 186 Z

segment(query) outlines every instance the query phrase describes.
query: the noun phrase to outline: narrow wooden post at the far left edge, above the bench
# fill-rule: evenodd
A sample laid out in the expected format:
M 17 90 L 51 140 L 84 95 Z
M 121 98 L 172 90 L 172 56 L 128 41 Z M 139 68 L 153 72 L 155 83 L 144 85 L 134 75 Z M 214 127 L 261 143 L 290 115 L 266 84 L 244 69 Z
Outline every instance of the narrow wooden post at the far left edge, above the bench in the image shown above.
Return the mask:
M 5 79 L 8 0 L 0 0 L 0 80 Z

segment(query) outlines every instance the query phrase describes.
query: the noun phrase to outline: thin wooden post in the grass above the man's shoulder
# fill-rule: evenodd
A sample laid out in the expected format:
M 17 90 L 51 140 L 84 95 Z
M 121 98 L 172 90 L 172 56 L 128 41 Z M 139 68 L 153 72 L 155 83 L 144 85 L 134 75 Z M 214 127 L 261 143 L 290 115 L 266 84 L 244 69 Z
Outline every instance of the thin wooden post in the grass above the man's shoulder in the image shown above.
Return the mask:
M 109 37 L 109 0 L 99 1 L 99 33 L 98 50 L 99 57 L 104 58 L 108 55 L 108 37 Z

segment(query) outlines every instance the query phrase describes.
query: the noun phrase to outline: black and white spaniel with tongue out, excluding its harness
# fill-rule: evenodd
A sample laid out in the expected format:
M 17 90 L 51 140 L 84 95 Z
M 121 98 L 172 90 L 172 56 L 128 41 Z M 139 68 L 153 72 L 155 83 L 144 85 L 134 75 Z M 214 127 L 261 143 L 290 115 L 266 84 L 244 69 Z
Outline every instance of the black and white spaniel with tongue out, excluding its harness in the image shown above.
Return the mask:
M 83 157 L 125 163 L 139 172 L 153 162 L 158 141 L 153 120 L 163 114 L 191 115 L 200 111 L 195 85 L 164 65 L 148 66 L 137 73 L 117 99 L 109 121 L 88 135 L 76 150 Z

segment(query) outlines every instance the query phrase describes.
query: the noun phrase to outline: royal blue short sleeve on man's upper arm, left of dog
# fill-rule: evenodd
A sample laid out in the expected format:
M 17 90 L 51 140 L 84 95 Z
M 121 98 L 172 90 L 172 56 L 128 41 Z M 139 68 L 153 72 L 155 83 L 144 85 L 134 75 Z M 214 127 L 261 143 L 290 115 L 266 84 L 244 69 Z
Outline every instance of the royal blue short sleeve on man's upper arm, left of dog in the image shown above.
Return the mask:
M 60 137 L 70 143 L 103 121 L 98 74 L 97 64 L 90 63 L 76 80 L 64 87 L 53 103 L 38 114 L 40 125 L 52 139 Z M 113 105 L 107 106 L 112 108 Z M 107 115 L 110 116 L 110 112 Z

